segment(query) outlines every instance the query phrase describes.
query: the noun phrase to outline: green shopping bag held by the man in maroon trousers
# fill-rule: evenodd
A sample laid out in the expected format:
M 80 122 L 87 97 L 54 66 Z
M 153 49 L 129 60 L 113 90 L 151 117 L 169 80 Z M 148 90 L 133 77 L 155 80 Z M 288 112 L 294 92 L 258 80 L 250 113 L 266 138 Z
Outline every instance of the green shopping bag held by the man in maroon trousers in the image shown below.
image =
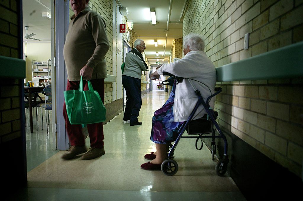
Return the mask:
M 79 90 L 64 92 L 65 105 L 71 124 L 94 124 L 105 121 L 106 109 L 92 83 L 87 81 L 88 91 L 83 91 L 81 76 Z

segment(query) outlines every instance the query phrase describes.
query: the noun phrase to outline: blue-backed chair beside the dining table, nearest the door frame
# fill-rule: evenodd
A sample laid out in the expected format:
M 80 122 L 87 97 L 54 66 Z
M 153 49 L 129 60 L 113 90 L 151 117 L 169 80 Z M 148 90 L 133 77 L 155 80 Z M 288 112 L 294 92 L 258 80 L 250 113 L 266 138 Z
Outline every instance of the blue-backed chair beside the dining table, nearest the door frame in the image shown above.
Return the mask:
M 42 93 L 45 96 L 44 103 L 39 103 L 37 106 L 45 109 L 45 119 L 46 119 L 46 129 L 48 135 L 48 125 L 49 125 L 49 110 L 52 110 L 52 84 L 49 84 L 44 87 Z M 48 97 L 48 99 L 47 99 Z M 42 112 L 42 109 L 41 109 Z M 38 114 L 37 114 L 38 119 Z M 48 119 L 48 122 L 47 122 Z M 43 129 L 43 115 L 42 115 L 42 129 Z

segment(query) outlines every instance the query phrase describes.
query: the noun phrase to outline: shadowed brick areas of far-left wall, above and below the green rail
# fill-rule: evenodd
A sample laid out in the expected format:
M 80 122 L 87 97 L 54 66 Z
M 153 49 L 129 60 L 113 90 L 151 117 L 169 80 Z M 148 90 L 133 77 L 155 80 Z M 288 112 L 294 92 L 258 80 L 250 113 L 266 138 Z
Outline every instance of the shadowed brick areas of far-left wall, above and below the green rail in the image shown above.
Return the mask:
M 0 1 L 0 55 L 19 58 L 18 4 Z M 3 66 L 2 66 L 3 67 Z M 20 80 L 0 79 L 0 144 L 21 137 Z

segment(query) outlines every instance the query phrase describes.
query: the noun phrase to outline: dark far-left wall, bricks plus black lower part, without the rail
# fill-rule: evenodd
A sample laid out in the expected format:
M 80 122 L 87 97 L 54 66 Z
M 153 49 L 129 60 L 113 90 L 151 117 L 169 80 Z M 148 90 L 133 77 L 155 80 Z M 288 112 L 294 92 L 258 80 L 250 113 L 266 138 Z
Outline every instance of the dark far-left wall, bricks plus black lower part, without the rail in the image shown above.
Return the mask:
M 1 56 L 20 58 L 22 54 L 19 9 L 18 0 L 0 0 Z M 22 83 L 22 79 L 0 77 L 0 151 L 5 153 L 0 172 L 4 199 L 27 183 Z M 12 147 L 14 151 L 8 151 Z

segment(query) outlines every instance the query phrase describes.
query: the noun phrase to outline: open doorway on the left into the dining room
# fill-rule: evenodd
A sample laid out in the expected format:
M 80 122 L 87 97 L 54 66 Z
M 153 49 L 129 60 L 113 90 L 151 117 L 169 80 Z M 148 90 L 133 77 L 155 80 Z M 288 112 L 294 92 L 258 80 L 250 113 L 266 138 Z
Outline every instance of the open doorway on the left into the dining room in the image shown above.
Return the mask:
M 39 92 L 43 91 L 46 86 L 51 86 L 52 98 L 55 99 L 53 95 L 56 84 L 54 4 L 49 0 L 28 0 L 22 4 L 22 19 L 23 52 L 26 62 L 25 85 L 28 81 L 34 81 L 34 86 L 39 87 Z M 35 94 L 37 93 L 35 92 Z M 49 96 L 44 96 L 41 93 L 38 95 L 42 100 L 38 99 L 37 104 L 44 103 L 44 99 L 49 99 Z M 25 109 L 27 171 L 30 171 L 58 152 L 55 129 L 55 104 L 51 105 L 52 109 L 49 110 L 49 113 L 46 112 L 46 115 L 42 105 L 37 105 L 40 106 L 37 107 L 37 111 L 35 110 L 36 104 L 32 104 L 32 115 L 30 115 L 29 108 Z

